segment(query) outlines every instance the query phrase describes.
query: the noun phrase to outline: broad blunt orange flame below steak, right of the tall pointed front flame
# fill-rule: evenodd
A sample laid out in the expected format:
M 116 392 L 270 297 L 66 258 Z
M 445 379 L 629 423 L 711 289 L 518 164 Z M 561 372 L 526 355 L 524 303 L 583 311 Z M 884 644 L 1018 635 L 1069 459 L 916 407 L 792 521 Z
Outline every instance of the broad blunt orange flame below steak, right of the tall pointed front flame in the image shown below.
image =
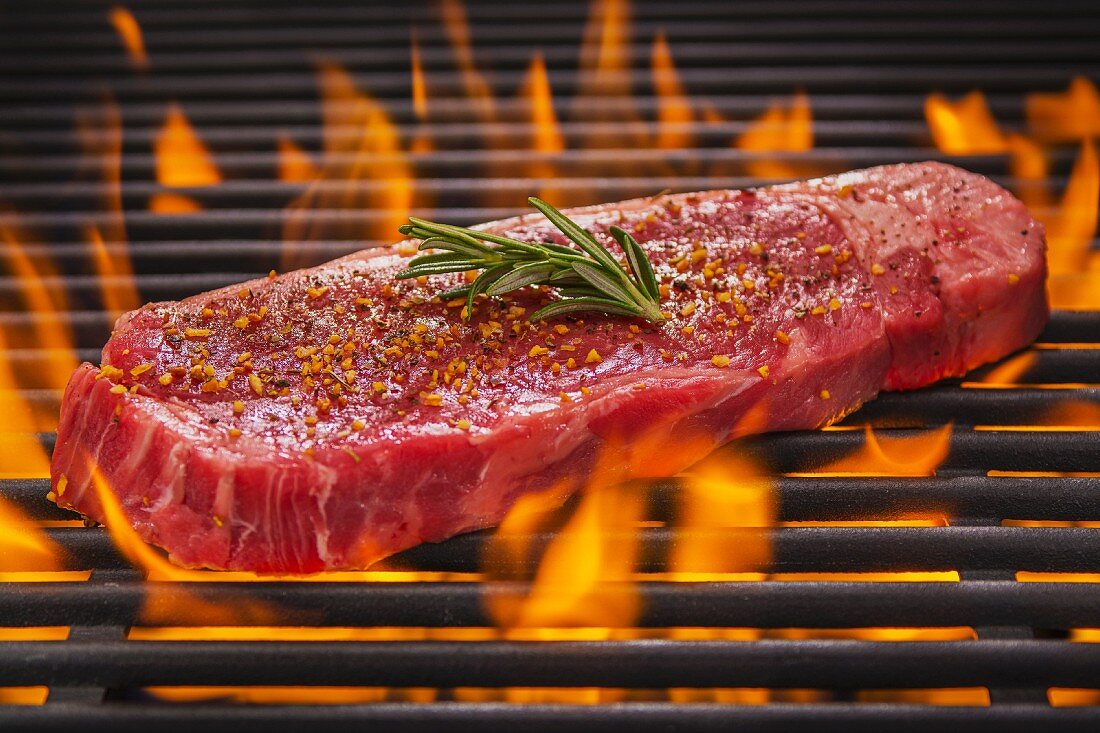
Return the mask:
M 670 558 L 673 580 L 705 580 L 729 572 L 766 572 L 777 521 L 774 483 L 749 460 L 723 451 L 684 477 L 679 539 Z

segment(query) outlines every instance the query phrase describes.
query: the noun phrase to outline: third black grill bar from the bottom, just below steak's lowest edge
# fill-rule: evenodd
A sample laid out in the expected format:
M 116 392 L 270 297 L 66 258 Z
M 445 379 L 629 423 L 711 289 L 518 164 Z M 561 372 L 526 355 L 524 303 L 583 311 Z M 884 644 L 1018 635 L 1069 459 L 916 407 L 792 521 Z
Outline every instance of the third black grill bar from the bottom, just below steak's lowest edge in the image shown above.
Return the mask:
M 502 582 L 0 583 L 9 626 L 266 625 L 234 609 L 267 608 L 280 625 L 492 627 L 486 604 L 526 594 Z M 966 582 L 605 583 L 603 600 L 637 597 L 630 627 L 860 628 L 1027 626 L 1065 630 L 1100 617 L 1100 584 Z M 196 602 L 196 600 L 201 602 Z M 257 606 L 258 604 L 258 606 Z M 240 617 L 235 617 L 240 616 Z

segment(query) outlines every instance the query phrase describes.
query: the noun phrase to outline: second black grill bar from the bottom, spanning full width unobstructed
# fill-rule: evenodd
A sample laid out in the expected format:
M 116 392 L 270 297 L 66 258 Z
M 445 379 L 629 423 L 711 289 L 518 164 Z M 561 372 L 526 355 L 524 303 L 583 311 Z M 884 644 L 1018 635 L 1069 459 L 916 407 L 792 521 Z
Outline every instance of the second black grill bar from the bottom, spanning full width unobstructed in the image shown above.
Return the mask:
M 0 683 L 387 687 L 1097 687 L 1064 642 L 0 642 Z

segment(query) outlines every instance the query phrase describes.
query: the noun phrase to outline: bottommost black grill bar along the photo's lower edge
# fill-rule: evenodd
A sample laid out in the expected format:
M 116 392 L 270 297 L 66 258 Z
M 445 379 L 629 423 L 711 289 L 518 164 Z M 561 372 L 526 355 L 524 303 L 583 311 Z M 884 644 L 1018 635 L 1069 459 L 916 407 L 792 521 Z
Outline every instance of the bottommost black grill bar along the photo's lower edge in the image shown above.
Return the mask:
M 7 719 L 20 730 L 80 730 L 109 733 L 165 733 L 232 730 L 270 733 L 273 726 L 308 727 L 318 733 L 370 730 L 484 733 L 524 730 L 530 733 L 584 730 L 592 733 L 629 731 L 667 733 L 700 731 L 784 733 L 792 730 L 881 733 L 884 730 L 941 730 L 1005 733 L 1036 730 L 1092 733 L 1100 725 L 1096 708 L 1052 710 L 1041 704 L 998 704 L 992 708 L 934 708 L 916 704 L 790 704 L 728 705 L 637 702 L 605 705 L 593 715 L 590 705 L 516 705 L 508 703 L 373 703 L 364 705 L 89 705 L 58 703 L 42 709 L 11 709 Z

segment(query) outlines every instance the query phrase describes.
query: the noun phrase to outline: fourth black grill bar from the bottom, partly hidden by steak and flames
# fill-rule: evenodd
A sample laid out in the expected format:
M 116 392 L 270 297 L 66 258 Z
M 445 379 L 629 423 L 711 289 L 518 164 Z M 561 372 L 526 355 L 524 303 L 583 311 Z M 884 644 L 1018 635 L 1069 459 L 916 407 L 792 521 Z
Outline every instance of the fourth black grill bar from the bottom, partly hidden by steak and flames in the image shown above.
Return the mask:
M 106 530 L 53 527 L 44 530 L 65 554 L 72 570 L 130 567 Z M 524 536 L 532 556 L 486 564 L 488 532 L 460 535 L 441 545 L 420 545 L 387 560 L 385 567 L 438 572 L 532 572 L 552 534 Z M 645 572 L 669 570 L 666 559 L 678 540 L 715 546 L 751 543 L 770 547 L 767 567 L 748 557 L 724 558 L 730 572 L 893 572 L 1027 570 L 1100 572 L 1100 532 L 1077 527 L 737 527 L 711 532 L 641 529 L 631 534 L 642 551 Z M 733 551 L 733 550 L 730 550 Z

